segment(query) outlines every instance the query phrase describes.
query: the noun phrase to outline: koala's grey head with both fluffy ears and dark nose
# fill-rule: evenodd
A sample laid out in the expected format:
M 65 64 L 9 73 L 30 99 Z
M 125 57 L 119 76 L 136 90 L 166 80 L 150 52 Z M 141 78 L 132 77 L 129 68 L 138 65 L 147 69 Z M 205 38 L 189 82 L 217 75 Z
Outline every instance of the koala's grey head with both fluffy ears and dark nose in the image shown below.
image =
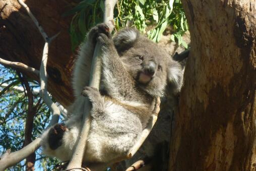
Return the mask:
M 182 84 L 180 64 L 138 30 L 123 29 L 113 37 L 113 41 L 124 67 L 138 87 L 148 94 L 162 96 L 168 80 Z

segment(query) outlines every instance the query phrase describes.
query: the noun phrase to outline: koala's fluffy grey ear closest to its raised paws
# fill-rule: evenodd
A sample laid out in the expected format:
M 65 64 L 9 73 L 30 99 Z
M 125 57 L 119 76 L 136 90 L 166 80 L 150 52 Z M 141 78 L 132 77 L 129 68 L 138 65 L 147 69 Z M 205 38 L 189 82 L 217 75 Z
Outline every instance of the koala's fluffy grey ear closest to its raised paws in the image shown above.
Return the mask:
M 116 33 L 113 37 L 113 41 L 118 53 L 132 47 L 139 36 L 140 32 L 136 28 L 126 28 Z

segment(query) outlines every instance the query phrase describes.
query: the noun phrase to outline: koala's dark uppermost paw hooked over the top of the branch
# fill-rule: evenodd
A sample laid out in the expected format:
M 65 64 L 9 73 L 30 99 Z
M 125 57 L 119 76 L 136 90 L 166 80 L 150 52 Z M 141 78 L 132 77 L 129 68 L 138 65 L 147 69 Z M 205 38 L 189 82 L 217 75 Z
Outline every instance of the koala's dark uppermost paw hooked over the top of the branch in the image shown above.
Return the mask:
M 101 23 L 101 24 L 94 26 L 89 31 L 88 39 L 90 39 L 91 41 L 93 41 L 95 43 L 96 39 L 100 33 L 105 34 L 108 38 L 111 38 L 111 34 L 110 34 L 108 26 L 105 23 Z

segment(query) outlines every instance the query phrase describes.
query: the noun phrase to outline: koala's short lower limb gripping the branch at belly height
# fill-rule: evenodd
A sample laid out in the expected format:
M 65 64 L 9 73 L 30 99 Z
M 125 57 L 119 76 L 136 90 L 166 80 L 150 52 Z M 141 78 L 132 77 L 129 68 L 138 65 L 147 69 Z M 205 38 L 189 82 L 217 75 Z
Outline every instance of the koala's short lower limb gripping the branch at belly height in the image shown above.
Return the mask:
M 84 87 L 82 95 L 88 97 L 92 103 L 92 117 L 99 119 L 104 115 L 104 98 L 96 88 Z

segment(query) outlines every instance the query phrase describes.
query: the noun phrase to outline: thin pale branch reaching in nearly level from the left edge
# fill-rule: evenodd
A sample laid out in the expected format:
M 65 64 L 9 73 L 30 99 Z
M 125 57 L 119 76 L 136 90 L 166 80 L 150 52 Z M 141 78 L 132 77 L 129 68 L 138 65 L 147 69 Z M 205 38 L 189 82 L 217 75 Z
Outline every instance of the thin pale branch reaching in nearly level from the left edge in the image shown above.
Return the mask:
M 3 58 L 0 58 L 0 63 L 3 65 L 6 65 L 6 66 L 11 66 L 13 68 L 19 68 L 19 69 L 22 69 L 25 71 L 33 72 L 36 75 L 39 75 L 39 70 L 37 70 L 33 67 L 30 67 L 28 65 L 25 65 L 24 63 L 21 63 L 21 62 L 11 62 L 11 61 L 5 60 Z

